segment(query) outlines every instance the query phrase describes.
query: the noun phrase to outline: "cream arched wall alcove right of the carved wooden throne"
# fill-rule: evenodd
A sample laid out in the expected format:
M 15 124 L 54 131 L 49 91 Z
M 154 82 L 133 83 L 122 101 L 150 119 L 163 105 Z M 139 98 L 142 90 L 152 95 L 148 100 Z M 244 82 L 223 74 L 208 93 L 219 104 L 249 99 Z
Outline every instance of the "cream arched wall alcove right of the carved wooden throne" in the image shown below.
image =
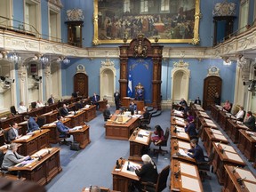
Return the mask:
M 188 101 L 190 70 L 188 63 L 180 60 L 175 62 L 172 69 L 172 102 L 179 102 L 181 98 Z

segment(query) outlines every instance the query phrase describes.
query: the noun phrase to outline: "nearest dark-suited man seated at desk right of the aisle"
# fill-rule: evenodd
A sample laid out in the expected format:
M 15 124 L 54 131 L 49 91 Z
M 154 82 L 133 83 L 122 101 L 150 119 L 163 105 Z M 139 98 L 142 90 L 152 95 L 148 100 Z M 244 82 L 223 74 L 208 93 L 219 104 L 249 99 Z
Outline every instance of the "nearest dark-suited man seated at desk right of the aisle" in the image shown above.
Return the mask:
M 197 163 L 204 162 L 204 152 L 203 152 L 203 149 L 198 145 L 197 140 L 196 139 L 190 140 L 190 143 L 192 148 L 189 150 L 185 150 L 185 152 L 188 154 L 188 156 L 195 158 Z

